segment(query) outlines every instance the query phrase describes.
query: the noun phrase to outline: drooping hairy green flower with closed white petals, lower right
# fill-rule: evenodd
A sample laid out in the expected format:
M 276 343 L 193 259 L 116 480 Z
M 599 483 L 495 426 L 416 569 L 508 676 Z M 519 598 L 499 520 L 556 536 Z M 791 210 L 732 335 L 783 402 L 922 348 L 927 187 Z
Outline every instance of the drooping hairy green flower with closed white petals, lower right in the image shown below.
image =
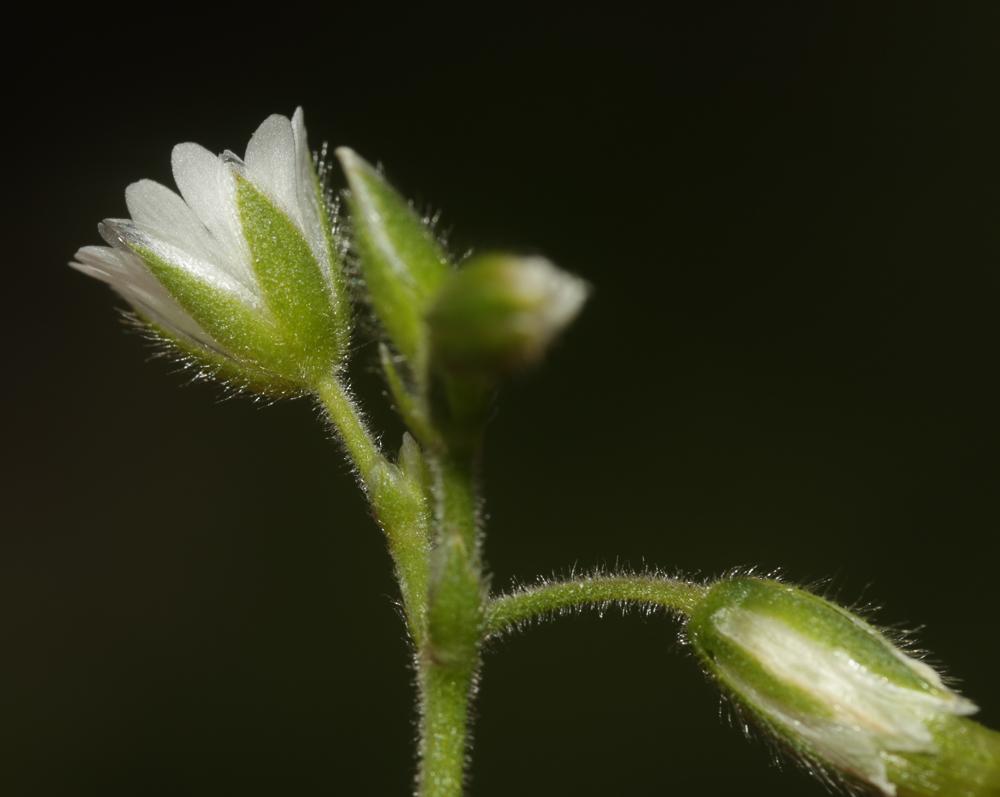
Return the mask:
M 812 767 L 886 795 L 1000 794 L 1000 735 L 961 719 L 976 706 L 847 610 L 734 578 L 711 587 L 688 634 L 738 706 Z

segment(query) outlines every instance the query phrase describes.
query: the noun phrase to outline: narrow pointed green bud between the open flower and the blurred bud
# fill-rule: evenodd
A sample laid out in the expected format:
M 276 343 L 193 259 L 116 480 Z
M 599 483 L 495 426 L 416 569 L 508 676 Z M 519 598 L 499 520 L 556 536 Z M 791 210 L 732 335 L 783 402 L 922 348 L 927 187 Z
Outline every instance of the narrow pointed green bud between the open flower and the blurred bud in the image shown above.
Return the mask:
M 346 147 L 337 157 L 350 186 L 352 238 L 368 300 L 387 339 L 420 380 L 428 349 L 424 313 L 451 270 L 447 255 L 376 169 Z

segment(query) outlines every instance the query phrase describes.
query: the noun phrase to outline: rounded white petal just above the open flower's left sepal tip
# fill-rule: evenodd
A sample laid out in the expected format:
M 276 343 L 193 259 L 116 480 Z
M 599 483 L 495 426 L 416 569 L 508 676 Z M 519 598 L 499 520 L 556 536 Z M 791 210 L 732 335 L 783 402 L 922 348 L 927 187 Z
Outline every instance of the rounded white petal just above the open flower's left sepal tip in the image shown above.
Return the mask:
M 153 180 L 132 183 L 125 189 L 125 202 L 132 220 L 151 235 L 202 260 L 218 262 L 224 257 L 208 228 L 165 185 Z

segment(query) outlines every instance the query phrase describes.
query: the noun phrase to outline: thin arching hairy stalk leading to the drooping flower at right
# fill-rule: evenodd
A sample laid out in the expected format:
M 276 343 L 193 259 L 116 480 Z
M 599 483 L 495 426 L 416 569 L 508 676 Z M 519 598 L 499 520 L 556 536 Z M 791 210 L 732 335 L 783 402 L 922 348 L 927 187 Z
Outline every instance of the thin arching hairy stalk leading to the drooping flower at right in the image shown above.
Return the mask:
M 485 633 L 496 636 L 562 609 L 608 604 L 661 607 L 687 615 L 706 588 L 651 575 L 617 574 L 554 581 L 493 598 L 486 606 Z

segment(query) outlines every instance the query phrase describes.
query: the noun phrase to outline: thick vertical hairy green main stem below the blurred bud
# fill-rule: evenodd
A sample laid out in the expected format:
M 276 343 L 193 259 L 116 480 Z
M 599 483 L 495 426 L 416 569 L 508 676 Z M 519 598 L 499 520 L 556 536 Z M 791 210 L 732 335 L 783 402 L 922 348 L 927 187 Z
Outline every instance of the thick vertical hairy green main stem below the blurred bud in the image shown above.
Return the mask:
M 420 797 L 459 797 L 465 783 L 469 703 L 480 664 L 482 565 L 474 456 L 434 462 L 438 499 L 428 641 L 418 653 Z

